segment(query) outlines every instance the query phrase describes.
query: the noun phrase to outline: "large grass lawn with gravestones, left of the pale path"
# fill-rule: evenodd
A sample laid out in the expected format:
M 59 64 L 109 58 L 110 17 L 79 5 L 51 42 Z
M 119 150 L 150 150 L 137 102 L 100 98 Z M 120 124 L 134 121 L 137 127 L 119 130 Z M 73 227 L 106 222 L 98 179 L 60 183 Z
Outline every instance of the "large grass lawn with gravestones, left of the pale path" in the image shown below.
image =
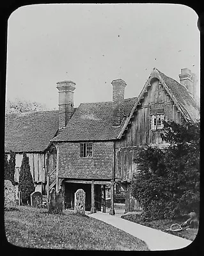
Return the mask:
M 19 206 L 4 211 L 9 243 L 26 248 L 72 250 L 149 250 L 145 242 L 90 216 Z

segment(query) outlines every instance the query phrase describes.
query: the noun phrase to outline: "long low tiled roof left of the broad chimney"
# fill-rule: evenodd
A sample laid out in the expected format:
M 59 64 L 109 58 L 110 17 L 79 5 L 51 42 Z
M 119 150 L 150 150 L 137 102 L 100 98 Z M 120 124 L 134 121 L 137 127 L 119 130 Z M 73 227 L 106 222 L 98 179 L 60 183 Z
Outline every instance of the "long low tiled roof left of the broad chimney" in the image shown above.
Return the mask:
M 6 115 L 4 151 L 41 152 L 58 131 L 58 111 Z

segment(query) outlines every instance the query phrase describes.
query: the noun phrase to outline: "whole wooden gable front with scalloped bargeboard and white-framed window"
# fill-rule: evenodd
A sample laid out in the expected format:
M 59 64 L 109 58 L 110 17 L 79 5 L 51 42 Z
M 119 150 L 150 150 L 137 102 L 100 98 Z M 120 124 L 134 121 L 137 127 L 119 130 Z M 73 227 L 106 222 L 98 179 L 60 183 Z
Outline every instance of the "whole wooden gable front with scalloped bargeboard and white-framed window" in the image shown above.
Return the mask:
M 162 120 L 182 122 L 184 115 L 157 70 L 146 81 L 116 142 L 116 179 L 128 181 L 137 170 L 134 159 L 145 145 L 165 145 Z

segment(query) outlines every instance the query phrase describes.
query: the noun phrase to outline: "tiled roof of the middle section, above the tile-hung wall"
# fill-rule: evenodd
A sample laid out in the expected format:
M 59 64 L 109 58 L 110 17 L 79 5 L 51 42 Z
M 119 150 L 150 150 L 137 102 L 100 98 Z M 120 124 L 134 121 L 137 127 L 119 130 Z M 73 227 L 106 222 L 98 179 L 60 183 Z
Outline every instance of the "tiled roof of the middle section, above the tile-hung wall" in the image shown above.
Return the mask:
M 129 113 L 136 98 L 125 99 L 125 115 Z M 120 127 L 113 126 L 113 102 L 81 103 L 68 122 L 64 131 L 52 141 L 113 140 Z

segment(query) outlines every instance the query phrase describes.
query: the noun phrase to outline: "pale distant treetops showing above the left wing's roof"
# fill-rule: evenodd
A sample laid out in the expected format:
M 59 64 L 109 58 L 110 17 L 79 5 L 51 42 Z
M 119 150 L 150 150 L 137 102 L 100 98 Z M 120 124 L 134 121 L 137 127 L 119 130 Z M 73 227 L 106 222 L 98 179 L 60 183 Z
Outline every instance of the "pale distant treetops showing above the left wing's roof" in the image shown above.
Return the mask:
M 44 104 L 39 102 L 30 102 L 16 98 L 15 100 L 6 101 L 6 114 L 10 113 L 24 113 L 28 111 L 47 111 L 50 110 Z

